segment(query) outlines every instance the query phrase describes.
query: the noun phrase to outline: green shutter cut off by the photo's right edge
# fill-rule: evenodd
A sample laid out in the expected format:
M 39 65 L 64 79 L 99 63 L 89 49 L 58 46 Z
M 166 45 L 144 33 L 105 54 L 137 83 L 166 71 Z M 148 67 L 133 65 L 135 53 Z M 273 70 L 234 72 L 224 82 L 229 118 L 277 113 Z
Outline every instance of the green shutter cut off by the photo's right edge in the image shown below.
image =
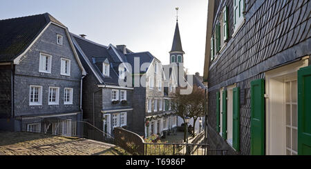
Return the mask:
M 298 71 L 298 155 L 311 155 L 311 66 Z

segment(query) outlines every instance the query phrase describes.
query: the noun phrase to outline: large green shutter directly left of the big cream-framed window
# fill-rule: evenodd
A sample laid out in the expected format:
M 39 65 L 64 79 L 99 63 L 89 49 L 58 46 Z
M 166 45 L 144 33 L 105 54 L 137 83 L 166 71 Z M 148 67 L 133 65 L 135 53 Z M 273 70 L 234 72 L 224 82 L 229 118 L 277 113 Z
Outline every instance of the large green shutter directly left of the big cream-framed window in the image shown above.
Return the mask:
M 265 155 L 265 80 L 251 82 L 251 155 Z

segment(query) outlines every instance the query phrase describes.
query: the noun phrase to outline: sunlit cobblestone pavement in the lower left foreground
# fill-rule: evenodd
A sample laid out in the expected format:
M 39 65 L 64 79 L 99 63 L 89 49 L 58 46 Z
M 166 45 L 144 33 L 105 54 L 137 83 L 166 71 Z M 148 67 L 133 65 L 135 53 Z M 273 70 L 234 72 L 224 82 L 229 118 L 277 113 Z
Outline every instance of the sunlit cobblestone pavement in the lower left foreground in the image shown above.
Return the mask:
M 109 143 L 29 132 L 0 132 L 0 155 L 126 155 Z

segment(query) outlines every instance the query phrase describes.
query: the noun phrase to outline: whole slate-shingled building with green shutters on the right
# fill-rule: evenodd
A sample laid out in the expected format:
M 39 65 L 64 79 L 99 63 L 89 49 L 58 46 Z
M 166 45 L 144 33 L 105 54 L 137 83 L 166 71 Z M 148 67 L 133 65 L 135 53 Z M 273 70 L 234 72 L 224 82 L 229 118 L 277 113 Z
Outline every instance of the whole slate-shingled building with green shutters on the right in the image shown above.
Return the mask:
M 311 154 L 306 0 L 209 1 L 208 136 L 232 155 Z

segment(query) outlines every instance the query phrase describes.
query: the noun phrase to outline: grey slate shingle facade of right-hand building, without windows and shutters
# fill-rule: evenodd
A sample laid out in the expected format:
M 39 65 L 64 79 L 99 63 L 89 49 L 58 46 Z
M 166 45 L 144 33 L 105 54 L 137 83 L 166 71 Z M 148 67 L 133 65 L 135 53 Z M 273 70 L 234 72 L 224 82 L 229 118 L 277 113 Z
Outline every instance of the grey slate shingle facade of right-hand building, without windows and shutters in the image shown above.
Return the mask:
M 214 6 L 213 32 L 223 7 L 229 8 L 229 41 L 209 65 L 208 139 L 212 147 L 226 148 L 229 154 L 249 155 L 250 82 L 264 79 L 267 70 L 310 55 L 311 2 L 245 0 L 245 23 L 234 37 L 233 3 L 216 0 Z M 240 106 L 239 152 L 235 152 L 216 133 L 216 92 L 234 83 L 245 93 L 245 101 Z

